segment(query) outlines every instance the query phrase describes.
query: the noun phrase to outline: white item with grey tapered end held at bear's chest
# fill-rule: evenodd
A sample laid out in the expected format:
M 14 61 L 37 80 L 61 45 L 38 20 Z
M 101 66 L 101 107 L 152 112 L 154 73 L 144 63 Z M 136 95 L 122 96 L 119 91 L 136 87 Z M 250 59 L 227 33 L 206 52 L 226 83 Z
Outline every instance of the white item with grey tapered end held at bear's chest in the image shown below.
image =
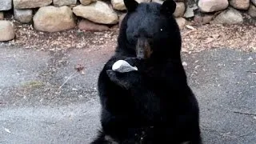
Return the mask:
M 130 66 L 130 64 L 124 60 L 118 60 L 117 62 L 114 62 L 114 65 L 112 66 L 112 70 L 118 71 L 120 73 L 126 73 L 134 70 L 138 70 L 136 66 Z

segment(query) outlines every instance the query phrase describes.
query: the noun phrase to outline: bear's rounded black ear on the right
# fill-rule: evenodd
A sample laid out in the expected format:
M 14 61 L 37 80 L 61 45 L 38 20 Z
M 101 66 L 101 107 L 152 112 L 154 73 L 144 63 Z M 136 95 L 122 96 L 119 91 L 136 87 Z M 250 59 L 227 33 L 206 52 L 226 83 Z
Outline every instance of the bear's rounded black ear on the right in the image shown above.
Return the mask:
M 172 15 L 174 14 L 174 11 L 176 10 L 176 2 L 173 0 L 166 0 L 162 3 L 161 12 L 163 14 Z

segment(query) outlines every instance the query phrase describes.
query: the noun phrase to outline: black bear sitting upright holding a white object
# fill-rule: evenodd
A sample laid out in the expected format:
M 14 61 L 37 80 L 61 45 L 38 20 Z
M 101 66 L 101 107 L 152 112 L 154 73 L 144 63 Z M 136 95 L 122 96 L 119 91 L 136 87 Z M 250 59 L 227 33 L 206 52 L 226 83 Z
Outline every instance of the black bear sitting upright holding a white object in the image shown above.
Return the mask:
M 198 101 L 182 66 L 176 3 L 124 2 L 118 46 L 98 78 L 102 130 L 92 144 L 202 143 Z M 138 70 L 112 70 L 118 60 Z

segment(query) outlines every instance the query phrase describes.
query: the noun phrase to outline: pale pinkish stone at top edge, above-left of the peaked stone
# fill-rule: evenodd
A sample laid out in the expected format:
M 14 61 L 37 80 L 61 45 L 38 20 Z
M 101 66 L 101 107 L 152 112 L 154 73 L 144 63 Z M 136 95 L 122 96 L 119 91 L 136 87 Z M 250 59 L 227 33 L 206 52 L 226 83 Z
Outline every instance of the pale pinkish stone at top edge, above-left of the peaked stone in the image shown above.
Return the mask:
M 202 12 L 225 10 L 229 6 L 228 0 L 199 0 L 198 7 Z

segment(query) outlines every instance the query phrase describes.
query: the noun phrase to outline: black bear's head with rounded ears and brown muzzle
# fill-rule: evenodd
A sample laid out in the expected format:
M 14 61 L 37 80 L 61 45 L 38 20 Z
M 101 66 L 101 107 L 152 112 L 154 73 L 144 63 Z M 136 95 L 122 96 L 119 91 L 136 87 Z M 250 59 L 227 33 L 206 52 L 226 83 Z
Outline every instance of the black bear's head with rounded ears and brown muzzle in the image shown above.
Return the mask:
M 124 0 L 117 51 L 137 58 L 180 58 L 181 35 L 173 16 L 176 3 Z

